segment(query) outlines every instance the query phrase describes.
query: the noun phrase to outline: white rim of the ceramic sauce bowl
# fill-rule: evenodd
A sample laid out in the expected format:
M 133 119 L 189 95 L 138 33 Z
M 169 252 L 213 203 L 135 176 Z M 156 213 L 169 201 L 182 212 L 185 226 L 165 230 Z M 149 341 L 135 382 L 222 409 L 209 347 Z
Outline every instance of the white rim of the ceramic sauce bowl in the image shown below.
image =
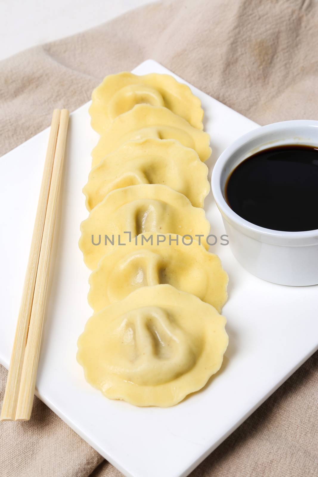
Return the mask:
M 218 157 L 215 163 L 211 177 L 211 189 L 215 198 L 216 205 L 219 208 L 221 214 L 224 215 L 232 225 L 237 226 L 241 230 L 242 228 L 245 229 L 245 231 L 247 232 L 246 235 L 258 234 L 263 237 L 267 237 L 268 239 L 287 239 L 288 241 L 310 239 L 318 236 L 318 229 L 291 232 L 284 230 L 273 230 L 270 228 L 260 227 L 256 224 L 253 224 L 252 222 L 249 222 L 248 220 L 240 217 L 238 214 L 236 214 L 236 212 L 234 212 L 234 210 L 231 209 L 231 207 L 229 207 L 222 192 L 221 177 L 223 170 L 226 164 L 229 162 L 229 160 L 239 148 L 248 145 L 248 143 L 253 141 L 254 139 L 261 139 L 262 136 L 267 135 L 268 133 L 277 131 L 288 132 L 295 127 L 308 127 L 308 129 L 311 129 L 312 127 L 318 128 L 318 121 L 299 119 L 291 121 L 281 121 L 278 123 L 267 124 L 266 126 L 256 127 L 256 129 L 252 129 L 248 133 L 238 137 L 231 145 L 229 145 L 223 151 L 223 153 Z M 295 139 L 295 135 L 291 136 L 290 139 Z M 267 142 L 264 142 L 264 145 L 266 144 Z M 294 142 L 294 144 L 297 143 Z

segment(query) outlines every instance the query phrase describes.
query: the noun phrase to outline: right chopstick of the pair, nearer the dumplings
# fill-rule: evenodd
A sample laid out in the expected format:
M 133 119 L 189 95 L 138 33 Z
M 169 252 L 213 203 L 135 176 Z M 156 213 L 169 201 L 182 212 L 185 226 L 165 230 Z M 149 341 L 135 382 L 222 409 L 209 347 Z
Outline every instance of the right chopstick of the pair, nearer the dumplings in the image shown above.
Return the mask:
M 38 271 L 35 281 L 30 326 L 24 353 L 15 420 L 27 421 L 31 417 L 36 375 L 38 370 L 45 302 L 48 289 L 53 233 L 66 145 L 69 112 L 62 109 L 56 142 L 51 187 L 43 229 Z

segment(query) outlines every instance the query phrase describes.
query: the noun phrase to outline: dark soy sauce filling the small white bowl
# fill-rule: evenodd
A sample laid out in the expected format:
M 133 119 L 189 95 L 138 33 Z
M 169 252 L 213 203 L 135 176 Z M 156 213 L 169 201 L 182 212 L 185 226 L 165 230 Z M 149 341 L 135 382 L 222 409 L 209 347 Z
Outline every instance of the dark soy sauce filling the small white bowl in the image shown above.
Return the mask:
M 245 159 L 226 182 L 226 202 L 252 224 L 297 232 L 318 229 L 318 148 L 284 145 Z

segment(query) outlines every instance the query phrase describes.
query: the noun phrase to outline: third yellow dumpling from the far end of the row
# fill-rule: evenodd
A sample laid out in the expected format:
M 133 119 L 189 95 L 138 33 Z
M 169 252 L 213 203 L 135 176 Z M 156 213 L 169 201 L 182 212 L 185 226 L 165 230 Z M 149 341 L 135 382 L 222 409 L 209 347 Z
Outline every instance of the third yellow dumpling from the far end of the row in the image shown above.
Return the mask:
M 163 184 L 203 207 L 209 193 L 208 168 L 193 149 L 173 139 L 130 141 L 95 166 L 83 188 L 92 210 L 112 190 L 137 184 Z

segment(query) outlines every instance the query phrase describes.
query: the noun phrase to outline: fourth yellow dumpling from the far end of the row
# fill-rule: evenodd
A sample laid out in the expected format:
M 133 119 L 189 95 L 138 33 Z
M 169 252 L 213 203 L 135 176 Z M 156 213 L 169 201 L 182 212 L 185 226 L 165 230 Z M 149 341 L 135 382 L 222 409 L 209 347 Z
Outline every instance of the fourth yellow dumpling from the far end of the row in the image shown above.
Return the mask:
M 85 264 L 94 270 L 112 247 L 109 239 L 113 238 L 113 244 L 125 243 L 145 232 L 207 236 L 209 230 L 205 211 L 193 207 L 183 194 L 166 186 L 142 184 L 116 189 L 94 207 L 81 224 L 79 246 Z M 204 244 L 208 248 L 206 240 Z

